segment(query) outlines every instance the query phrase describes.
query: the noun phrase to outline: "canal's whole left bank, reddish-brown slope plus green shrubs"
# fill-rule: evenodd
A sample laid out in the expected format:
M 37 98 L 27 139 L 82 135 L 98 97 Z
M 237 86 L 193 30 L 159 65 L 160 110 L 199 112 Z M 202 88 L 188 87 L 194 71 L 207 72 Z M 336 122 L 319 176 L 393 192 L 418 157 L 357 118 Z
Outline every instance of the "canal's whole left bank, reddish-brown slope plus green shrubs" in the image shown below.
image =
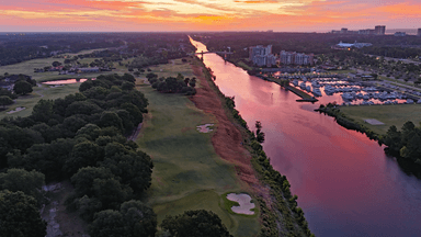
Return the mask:
M 196 95 L 192 100 L 195 101 L 198 108 L 208 110 L 210 113 L 215 113 L 214 108 L 218 106 L 215 98 L 218 98 L 219 104 L 223 104 L 225 114 L 220 114 L 220 110 L 218 110 L 217 117 L 225 117 L 224 121 L 226 121 L 227 127 L 221 129 L 218 126 L 217 132 L 219 134 L 214 135 L 213 144 L 217 153 L 221 153 L 223 158 L 226 157 L 227 160 L 236 165 L 238 176 L 248 183 L 249 189 L 257 196 L 261 210 L 260 221 L 262 226 L 260 236 L 312 236 L 303 210 L 297 206 L 297 196 L 291 193 L 291 184 L 286 177 L 273 169 L 262 146 L 255 140 L 247 123 L 235 109 L 234 100 L 225 97 L 219 91 L 212 80 L 212 74 L 202 61 L 201 64 L 205 77 L 198 79 L 201 84 L 206 88 L 204 89 L 206 95 Z M 201 92 L 197 91 L 197 94 L 200 95 Z M 238 150 L 246 148 L 248 153 L 237 153 L 235 158 L 227 156 L 228 154 L 225 153 L 232 149 L 232 147 Z

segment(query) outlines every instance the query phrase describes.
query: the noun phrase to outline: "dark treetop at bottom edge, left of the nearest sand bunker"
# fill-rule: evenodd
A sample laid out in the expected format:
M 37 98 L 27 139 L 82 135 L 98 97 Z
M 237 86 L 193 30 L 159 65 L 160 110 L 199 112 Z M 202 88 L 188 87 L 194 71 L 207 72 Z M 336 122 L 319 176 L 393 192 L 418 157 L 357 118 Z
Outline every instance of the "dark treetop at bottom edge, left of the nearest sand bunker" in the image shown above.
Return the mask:
M 161 227 L 173 237 L 231 237 L 219 216 L 205 210 L 186 211 L 182 215 L 167 216 Z

